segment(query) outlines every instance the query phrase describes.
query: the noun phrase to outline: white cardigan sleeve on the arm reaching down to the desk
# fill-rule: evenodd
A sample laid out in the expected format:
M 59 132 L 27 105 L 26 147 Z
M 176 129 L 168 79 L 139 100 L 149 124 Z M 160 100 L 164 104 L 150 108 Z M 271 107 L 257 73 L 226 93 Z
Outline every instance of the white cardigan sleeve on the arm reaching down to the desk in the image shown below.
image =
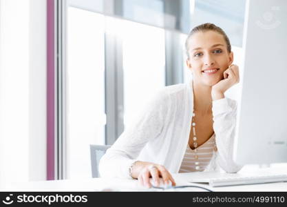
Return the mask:
M 169 104 L 169 95 L 165 90 L 160 90 L 147 102 L 145 108 L 131 121 L 132 124 L 125 128 L 100 159 L 100 177 L 131 178 L 129 166 L 136 161 L 145 144 L 160 135 L 169 113 Z

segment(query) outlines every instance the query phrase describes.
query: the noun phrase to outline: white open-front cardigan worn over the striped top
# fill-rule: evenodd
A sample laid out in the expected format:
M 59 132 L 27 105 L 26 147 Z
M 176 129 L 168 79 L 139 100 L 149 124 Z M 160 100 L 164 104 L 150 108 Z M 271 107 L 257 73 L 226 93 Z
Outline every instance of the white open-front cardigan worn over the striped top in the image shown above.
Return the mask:
M 236 101 L 228 98 L 213 101 L 217 152 L 204 171 L 222 168 L 237 172 L 242 168 L 232 159 L 236 108 Z M 100 176 L 131 178 L 129 166 L 137 160 L 160 164 L 177 173 L 189 142 L 192 113 L 192 83 L 164 87 L 100 159 Z

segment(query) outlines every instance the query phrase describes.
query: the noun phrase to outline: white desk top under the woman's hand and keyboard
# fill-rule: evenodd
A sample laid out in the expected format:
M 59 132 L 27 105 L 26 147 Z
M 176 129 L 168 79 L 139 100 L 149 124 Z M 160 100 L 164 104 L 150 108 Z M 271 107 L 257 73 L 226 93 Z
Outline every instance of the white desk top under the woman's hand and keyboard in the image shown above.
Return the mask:
M 240 173 L 251 172 L 280 172 L 287 174 L 287 168 L 243 168 Z M 256 171 L 257 170 L 257 171 Z M 204 172 L 194 172 L 194 175 L 204 176 Z M 209 172 L 210 173 L 210 172 Z M 173 174 L 177 185 L 191 185 L 185 181 L 184 173 Z M 207 184 L 202 185 L 214 191 L 287 191 L 287 182 L 273 184 L 255 184 L 244 186 L 228 186 L 211 188 Z M 101 191 L 111 189 L 112 191 L 162 191 L 154 188 L 144 188 L 132 179 L 71 179 L 57 181 L 32 181 L 25 183 L 14 183 L 7 186 L 6 191 Z M 199 188 L 182 188 L 168 191 L 204 191 Z

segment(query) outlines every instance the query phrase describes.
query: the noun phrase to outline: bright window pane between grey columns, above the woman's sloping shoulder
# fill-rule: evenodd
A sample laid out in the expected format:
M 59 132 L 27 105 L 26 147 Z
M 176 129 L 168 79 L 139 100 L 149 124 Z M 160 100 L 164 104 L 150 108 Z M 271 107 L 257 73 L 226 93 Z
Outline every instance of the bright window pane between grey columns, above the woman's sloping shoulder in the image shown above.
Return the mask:
M 164 87 L 164 30 L 122 21 L 125 126 L 153 92 Z

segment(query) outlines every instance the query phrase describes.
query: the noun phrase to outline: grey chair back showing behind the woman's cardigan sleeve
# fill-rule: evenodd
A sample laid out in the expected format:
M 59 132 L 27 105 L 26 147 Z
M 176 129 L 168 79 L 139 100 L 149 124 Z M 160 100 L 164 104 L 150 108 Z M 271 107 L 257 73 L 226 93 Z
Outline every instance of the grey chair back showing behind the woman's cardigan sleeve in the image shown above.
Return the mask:
M 100 162 L 100 158 L 105 155 L 105 152 L 110 147 L 110 145 L 89 145 L 91 152 L 92 177 L 99 177 L 98 164 Z

